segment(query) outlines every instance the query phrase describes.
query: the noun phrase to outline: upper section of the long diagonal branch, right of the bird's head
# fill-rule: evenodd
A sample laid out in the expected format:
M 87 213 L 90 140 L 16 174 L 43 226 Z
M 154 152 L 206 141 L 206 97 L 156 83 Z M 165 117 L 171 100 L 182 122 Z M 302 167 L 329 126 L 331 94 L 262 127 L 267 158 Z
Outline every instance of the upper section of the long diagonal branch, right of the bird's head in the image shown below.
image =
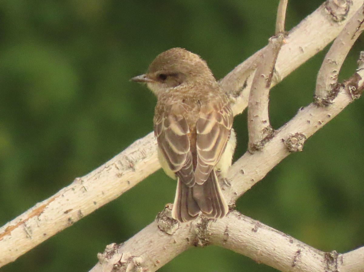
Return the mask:
M 353 16 L 362 4 L 361 0 L 328 0 L 289 31 L 286 44 L 278 54 L 272 87 L 335 39 L 343 29 L 345 20 Z M 232 94 L 234 115 L 243 112 L 248 105 L 252 82 L 248 71 L 254 71 L 262 50 L 264 48 L 239 64 L 219 82 L 227 93 Z

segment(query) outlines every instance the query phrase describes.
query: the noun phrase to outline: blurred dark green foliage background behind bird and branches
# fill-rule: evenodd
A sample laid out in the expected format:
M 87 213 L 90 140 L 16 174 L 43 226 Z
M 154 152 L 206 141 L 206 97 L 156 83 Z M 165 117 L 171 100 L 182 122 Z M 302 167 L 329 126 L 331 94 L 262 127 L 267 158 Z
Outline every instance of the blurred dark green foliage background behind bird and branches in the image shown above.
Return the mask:
M 290 1 L 286 29 L 322 1 Z M 0 1 L 0 225 L 67 186 L 152 131 L 156 99 L 131 83 L 158 53 L 184 47 L 217 79 L 267 44 L 278 0 Z M 340 79 L 355 71 L 359 39 Z M 327 51 L 327 49 L 325 50 Z M 274 87 L 274 128 L 312 101 L 325 52 Z M 310 138 L 237 202 L 254 219 L 323 251 L 364 244 L 363 99 Z M 247 146 L 237 116 L 235 159 Z M 1 272 L 88 271 L 173 201 L 161 170 L 118 199 L 21 256 Z M 182 253 L 160 271 L 276 271 L 210 246 Z

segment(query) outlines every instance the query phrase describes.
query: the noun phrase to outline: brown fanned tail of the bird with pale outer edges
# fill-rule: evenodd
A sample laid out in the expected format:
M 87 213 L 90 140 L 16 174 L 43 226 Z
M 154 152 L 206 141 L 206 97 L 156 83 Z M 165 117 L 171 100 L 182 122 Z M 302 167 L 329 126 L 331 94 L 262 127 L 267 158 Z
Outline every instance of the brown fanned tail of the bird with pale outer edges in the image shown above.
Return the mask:
M 180 222 L 193 220 L 199 212 L 209 218 L 222 218 L 229 211 L 222 195 L 215 170 L 203 184 L 187 187 L 179 178 L 172 217 Z

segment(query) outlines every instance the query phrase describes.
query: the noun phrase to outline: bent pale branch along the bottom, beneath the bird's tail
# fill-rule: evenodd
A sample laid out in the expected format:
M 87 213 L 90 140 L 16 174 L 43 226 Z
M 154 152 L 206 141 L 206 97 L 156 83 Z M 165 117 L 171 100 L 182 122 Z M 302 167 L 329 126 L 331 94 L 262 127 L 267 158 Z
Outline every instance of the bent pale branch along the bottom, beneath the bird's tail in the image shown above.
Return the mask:
M 170 210 L 168 208 L 165 211 Z M 323 252 L 237 211 L 219 220 L 184 223 L 173 235 L 161 230 L 160 218 L 123 244 L 110 244 L 99 253 L 90 272 L 157 271 L 186 249 L 219 245 L 282 272 L 359 272 L 364 247 L 348 253 Z M 178 222 L 170 222 L 170 227 Z M 178 226 L 177 226 L 178 227 Z

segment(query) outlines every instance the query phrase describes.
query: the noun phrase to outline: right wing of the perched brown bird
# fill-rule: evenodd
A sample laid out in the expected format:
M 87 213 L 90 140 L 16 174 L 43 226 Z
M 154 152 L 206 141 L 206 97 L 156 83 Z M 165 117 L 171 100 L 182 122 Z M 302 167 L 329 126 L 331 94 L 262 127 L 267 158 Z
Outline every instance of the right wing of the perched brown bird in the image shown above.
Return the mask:
M 203 184 L 225 151 L 233 125 L 229 101 L 215 100 L 202 105 L 196 124 L 197 165 L 195 182 Z

